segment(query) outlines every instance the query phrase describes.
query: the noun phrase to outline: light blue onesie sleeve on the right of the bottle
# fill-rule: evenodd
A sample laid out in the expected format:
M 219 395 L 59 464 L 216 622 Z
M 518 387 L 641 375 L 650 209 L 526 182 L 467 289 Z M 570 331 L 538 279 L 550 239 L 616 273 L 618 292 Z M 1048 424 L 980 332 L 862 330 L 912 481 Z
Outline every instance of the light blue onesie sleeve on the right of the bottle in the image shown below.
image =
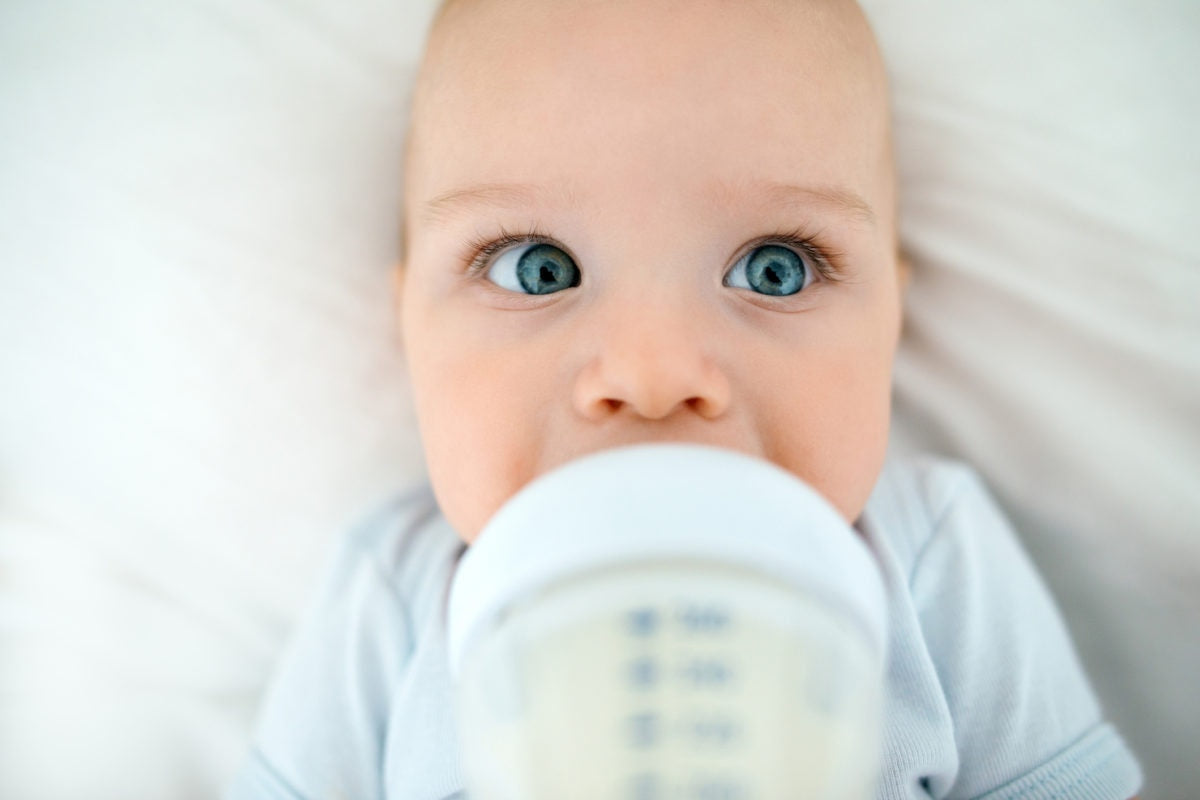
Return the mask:
M 910 589 L 953 718 L 948 800 L 1127 800 L 1141 772 L 1105 723 L 1049 590 L 968 469 L 948 470 Z

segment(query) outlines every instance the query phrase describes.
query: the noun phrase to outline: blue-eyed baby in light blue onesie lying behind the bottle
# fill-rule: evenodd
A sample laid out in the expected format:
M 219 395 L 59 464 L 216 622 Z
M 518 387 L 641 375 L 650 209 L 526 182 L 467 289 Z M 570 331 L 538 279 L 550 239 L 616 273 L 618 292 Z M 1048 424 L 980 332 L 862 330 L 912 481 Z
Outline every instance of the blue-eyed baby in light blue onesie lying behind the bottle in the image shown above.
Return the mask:
M 852 0 L 450 0 L 404 194 L 432 493 L 348 541 L 233 798 L 460 794 L 458 558 L 534 477 L 643 441 L 773 462 L 870 543 L 890 637 L 878 798 L 1138 790 L 979 482 L 886 459 L 905 276 L 887 82 Z

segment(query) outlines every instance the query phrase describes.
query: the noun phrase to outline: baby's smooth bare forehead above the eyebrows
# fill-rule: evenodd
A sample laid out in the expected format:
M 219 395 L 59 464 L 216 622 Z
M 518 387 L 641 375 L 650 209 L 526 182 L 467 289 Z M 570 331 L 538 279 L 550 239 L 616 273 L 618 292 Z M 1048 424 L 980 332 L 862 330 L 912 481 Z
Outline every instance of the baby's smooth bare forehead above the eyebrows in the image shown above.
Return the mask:
M 853 2 L 679 5 L 450 0 L 415 94 L 412 193 L 600 169 L 624 186 L 660 168 L 697 186 L 890 181 L 886 78 Z

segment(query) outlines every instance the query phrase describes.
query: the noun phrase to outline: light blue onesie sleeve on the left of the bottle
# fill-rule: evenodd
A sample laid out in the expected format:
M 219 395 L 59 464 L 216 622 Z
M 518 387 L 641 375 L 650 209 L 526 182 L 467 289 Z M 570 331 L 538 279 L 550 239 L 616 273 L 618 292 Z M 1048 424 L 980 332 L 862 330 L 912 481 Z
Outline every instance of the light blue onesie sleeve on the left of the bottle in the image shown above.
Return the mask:
M 346 539 L 268 687 L 226 800 L 383 795 L 384 732 L 413 627 L 379 541 L 412 516 L 390 507 Z

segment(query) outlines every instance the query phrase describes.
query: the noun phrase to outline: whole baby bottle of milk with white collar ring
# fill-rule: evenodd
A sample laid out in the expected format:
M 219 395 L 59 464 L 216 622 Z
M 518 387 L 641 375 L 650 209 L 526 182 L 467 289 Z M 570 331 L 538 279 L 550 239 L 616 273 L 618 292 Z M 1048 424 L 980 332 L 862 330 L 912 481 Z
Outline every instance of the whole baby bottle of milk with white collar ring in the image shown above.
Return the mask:
M 463 555 L 449 655 L 470 800 L 865 800 L 886 607 L 866 545 L 767 462 L 571 462 Z

